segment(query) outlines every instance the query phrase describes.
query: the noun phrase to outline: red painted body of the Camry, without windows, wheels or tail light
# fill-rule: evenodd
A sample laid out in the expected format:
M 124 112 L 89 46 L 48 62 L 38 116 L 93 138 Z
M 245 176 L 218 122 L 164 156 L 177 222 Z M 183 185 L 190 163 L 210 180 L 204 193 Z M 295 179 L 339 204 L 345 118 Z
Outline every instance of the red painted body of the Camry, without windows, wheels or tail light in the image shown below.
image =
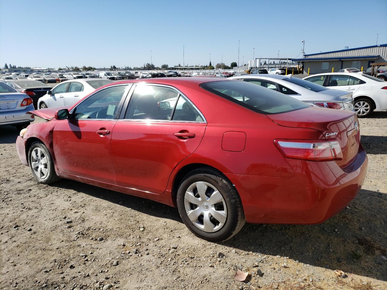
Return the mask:
M 360 131 L 355 130 L 354 113 L 308 107 L 259 114 L 199 86 L 216 81 L 226 80 L 157 78 L 104 86 L 139 82 L 170 85 L 195 104 L 207 123 L 57 120 L 51 118 L 60 108 L 33 111 L 51 120 L 29 125 L 23 138 L 17 138 L 19 157 L 28 165 L 28 146 L 39 139 L 50 150 L 58 176 L 172 206 L 176 205 L 176 185 L 182 177 L 179 173 L 188 167 L 209 165 L 235 185 L 246 220 L 252 223 L 319 223 L 354 198 L 368 164 Z M 97 130 L 110 133 L 101 136 Z M 337 135 L 325 136 L 332 131 Z M 195 138 L 173 135 L 178 132 L 194 133 Z M 339 142 L 342 160 L 284 158 L 274 145 L 276 139 L 330 138 Z

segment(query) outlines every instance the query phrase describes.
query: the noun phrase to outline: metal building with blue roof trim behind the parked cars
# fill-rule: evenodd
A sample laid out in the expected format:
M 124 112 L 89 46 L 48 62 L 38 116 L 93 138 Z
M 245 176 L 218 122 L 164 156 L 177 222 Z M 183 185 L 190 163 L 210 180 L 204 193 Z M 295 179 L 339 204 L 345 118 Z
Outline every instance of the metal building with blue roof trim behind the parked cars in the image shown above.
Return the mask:
M 304 58 L 294 58 L 304 65 L 304 73 L 338 72 L 343 68 L 358 68 L 366 70 L 371 63 L 387 61 L 387 44 L 363 46 L 304 55 Z

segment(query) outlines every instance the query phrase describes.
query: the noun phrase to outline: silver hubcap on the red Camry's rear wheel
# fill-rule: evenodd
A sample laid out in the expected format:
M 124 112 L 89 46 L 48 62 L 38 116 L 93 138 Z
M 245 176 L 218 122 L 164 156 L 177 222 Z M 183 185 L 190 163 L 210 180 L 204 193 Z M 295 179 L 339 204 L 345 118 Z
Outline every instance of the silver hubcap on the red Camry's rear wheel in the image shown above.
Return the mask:
M 188 218 L 204 232 L 220 230 L 227 220 L 227 207 L 222 194 L 211 184 L 198 181 L 184 195 Z

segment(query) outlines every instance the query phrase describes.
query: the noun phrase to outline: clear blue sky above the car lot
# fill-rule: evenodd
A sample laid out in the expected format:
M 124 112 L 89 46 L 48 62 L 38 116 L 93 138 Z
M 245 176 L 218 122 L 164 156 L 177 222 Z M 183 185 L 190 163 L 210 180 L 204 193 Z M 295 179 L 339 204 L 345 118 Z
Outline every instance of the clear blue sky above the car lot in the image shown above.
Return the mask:
M 387 1 L 0 0 L 0 66 L 140 67 L 387 43 Z M 380 12 L 377 20 L 368 15 Z M 294 22 L 295 24 L 292 24 Z

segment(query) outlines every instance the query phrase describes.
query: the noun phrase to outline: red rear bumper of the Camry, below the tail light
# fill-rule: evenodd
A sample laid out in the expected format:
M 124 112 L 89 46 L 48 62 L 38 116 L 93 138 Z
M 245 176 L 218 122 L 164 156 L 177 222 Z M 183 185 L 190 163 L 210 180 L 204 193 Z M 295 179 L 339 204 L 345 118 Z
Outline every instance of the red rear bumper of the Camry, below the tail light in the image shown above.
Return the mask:
M 334 161 L 288 159 L 288 162 L 295 177 L 226 174 L 240 194 L 247 222 L 324 222 L 356 196 L 368 166 L 361 145 L 356 159 L 344 169 Z

